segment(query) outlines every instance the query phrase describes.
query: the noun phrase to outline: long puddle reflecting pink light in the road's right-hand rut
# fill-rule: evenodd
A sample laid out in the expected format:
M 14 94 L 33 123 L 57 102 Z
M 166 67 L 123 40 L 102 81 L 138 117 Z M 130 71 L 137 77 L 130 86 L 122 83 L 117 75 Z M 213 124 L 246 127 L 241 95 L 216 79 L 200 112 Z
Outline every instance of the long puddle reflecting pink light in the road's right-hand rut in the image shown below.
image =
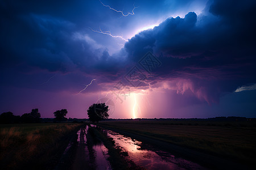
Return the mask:
M 111 130 L 106 130 L 108 137 L 113 138 L 115 145 L 121 147 L 127 152 L 129 159 L 135 164 L 146 169 L 205 169 L 199 164 L 189 162 L 188 160 L 176 158 L 168 152 L 151 150 L 142 150 L 141 143 L 129 137 L 125 137 Z M 161 156 L 160 156 L 161 155 Z M 164 156 L 163 156 L 164 155 Z

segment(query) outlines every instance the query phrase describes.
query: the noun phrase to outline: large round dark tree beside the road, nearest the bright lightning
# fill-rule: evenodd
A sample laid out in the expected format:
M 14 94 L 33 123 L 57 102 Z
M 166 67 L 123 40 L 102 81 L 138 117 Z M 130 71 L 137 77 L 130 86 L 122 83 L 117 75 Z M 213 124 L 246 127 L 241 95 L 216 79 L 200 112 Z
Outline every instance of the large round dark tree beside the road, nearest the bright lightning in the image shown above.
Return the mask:
M 105 103 L 94 103 L 90 105 L 89 109 L 87 110 L 87 114 L 90 121 L 98 122 L 109 117 L 108 111 L 109 106 Z

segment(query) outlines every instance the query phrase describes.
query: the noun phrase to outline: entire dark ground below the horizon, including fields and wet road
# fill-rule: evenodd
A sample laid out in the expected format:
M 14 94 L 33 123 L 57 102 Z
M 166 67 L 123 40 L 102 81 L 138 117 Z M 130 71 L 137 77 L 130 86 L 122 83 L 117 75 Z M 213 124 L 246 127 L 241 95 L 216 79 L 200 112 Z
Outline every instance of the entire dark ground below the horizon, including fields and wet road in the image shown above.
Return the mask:
M 253 121 L 10 124 L 1 169 L 255 169 Z

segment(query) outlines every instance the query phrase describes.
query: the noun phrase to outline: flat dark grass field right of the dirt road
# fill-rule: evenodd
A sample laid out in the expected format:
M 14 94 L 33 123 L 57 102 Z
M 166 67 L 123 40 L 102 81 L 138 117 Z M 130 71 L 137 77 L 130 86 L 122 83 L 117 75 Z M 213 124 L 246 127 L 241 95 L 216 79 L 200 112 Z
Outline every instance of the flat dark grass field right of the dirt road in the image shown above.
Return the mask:
M 127 120 L 100 125 L 255 164 L 255 122 Z

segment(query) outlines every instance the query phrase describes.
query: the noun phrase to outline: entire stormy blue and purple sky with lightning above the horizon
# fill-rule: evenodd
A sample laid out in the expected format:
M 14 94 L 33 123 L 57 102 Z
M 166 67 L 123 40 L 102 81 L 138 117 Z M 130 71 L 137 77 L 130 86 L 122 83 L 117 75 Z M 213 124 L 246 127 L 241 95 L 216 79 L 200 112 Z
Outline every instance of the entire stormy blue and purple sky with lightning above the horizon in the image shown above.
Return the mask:
M 1 1 L 0 113 L 256 117 L 256 1 Z

